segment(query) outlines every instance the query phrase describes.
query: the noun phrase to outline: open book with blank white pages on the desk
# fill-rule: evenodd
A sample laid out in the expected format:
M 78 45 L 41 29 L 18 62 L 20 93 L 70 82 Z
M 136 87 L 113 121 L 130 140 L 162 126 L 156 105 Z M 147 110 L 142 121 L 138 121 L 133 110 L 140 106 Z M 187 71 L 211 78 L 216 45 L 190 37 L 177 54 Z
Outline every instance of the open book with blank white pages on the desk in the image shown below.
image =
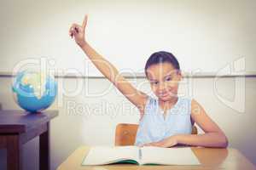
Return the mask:
M 134 163 L 137 165 L 199 165 L 200 162 L 188 147 L 160 148 L 154 146 L 96 146 L 91 147 L 82 165 Z

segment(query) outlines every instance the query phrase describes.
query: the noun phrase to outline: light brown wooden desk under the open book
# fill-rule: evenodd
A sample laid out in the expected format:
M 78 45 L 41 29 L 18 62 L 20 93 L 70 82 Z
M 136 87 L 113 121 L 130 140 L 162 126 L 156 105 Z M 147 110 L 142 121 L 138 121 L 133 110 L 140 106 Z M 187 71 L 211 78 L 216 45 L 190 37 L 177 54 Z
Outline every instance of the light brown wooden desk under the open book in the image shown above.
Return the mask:
M 201 162 L 199 166 L 137 166 L 133 164 L 113 164 L 107 166 L 81 166 L 84 156 L 90 150 L 89 146 L 81 146 L 75 150 L 71 156 L 67 157 L 57 170 L 170 170 L 170 169 L 255 169 L 250 161 L 247 161 L 245 156 L 242 156 L 235 149 L 211 149 L 211 148 L 196 148 L 192 147 L 195 156 Z

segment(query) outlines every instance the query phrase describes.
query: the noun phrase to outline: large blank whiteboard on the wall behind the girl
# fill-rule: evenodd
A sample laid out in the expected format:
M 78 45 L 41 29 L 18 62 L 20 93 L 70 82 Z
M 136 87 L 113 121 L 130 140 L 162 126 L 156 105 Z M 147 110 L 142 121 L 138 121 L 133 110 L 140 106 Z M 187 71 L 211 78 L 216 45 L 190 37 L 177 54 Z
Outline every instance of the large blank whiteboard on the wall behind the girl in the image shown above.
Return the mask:
M 256 71 L 255 8 L 253 0 L 1 1 L 0 72 L 43 59 L 64 75 L 102 76 L 68 36 L 84 14 L 86 39 L 120 72 L 143 73 L 156 51 L 174 54 L 183 71 Z

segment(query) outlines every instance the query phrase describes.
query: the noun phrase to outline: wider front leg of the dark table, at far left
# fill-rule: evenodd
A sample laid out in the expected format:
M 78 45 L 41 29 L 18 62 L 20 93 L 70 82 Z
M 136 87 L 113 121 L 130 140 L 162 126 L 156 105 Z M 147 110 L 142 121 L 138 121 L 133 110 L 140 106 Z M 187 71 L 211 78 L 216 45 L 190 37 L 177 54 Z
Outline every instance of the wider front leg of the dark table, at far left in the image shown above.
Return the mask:
M 19 134 L 6 136 L 7 148 L 7 169 L 21 170 L 22 169 L 22 144 L 20 143 Z

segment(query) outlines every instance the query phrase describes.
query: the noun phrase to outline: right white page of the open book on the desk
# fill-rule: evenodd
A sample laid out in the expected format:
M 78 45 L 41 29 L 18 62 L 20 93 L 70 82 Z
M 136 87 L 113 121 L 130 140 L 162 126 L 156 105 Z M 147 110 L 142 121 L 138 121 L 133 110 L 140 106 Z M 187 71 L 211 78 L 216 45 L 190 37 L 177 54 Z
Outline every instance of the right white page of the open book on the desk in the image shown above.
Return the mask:
M 197 157 L 189 147 L 160 148 L 144 146 L 142 150 L 142 164 L 154 163 L 165 165 L 199 165 Z

